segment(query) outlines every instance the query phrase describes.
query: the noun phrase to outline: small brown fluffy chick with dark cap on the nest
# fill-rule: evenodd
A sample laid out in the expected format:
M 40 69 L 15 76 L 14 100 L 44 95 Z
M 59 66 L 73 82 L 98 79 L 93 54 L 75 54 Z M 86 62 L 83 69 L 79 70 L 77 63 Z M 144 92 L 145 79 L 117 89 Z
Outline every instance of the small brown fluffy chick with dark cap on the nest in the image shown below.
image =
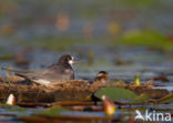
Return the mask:
M 109 73 L 106 71 L 100 71 L 96 74 L 93 83 L 105 85 L 108 82 L 109 82 Z

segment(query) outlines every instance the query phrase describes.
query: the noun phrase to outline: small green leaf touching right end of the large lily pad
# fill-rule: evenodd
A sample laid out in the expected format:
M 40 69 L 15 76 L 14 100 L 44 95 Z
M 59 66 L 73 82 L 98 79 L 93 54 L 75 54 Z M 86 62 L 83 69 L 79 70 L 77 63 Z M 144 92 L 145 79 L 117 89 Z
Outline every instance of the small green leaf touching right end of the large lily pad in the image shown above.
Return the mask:
M 136 96 L 135 99 L 133 99 L 132 103 L 142 103 L 149 100 L 147 94 L 142 93 L 139 96 Z

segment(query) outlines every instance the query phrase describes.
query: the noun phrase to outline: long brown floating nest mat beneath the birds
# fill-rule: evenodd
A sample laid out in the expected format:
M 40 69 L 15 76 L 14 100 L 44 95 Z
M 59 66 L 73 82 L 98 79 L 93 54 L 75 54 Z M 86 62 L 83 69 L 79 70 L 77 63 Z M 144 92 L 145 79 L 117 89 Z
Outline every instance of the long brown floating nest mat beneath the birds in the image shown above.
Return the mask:
M 27 82 L 16 75 L 7 75 L 9 82 L 0 82 L 0 101 L 6 102 L 10 93 L 14 94 L 17 102 L 55 102 L 55 101 L 91 101 L 95 91 L 104 86 L 120 86 L 130 89 L 135 93 L 147 93 L 150 98 L 162 98 L 167 94 L 166 90 L 152 89 L 151 82 L 136 86 L 133 84 L 90 83 L 85 80 L 70 80 L 67 82 L 57 82 L 49 86 Z

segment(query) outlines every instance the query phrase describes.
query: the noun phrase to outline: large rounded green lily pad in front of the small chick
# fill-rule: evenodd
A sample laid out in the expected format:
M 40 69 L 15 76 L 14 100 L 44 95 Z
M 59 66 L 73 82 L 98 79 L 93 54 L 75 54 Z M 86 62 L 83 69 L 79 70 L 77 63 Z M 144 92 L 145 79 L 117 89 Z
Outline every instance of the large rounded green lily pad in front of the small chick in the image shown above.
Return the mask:
M 102 95 L 106 95 L 113 101 L 132 101 L 138 96 L 138 94 L 128 89 L 114 86 L 102 88 L 98 90 L 94 95 L 99 99 L 101 99 Z

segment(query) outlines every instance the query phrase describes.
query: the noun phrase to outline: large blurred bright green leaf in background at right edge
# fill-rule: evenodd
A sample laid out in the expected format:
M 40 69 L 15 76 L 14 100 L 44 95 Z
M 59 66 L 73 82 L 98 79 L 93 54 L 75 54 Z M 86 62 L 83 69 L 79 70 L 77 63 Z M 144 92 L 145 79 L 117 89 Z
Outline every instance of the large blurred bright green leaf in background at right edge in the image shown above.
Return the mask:
M 128 45 L 151 47 L 166 51 L 173 50 L 173 43 L 166 37 L 153 30 L 131 30 L 124 33 L 123 38 L 119 41 L 120 43 Z

